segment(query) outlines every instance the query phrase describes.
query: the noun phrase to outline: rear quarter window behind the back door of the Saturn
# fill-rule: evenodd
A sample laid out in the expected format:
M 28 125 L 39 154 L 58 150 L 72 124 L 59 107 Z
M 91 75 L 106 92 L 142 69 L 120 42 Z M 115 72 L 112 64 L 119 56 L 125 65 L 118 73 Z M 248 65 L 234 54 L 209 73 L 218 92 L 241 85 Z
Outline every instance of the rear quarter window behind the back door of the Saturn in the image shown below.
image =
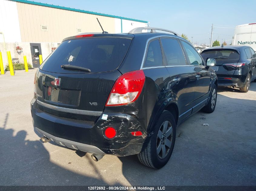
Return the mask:
M 143 67 L 163 66 L 163 57 L 159 40 L 149 43 Z

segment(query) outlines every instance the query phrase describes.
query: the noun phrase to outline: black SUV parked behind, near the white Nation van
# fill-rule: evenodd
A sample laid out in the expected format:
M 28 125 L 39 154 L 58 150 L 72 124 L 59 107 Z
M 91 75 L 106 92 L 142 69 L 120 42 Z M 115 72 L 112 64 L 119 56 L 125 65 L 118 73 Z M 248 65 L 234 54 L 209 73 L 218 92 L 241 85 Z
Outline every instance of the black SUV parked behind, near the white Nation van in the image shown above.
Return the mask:
M 248 92 L 251 81 L 256 81 L 256 54 L 250 46 L 214 46 L 202 51 L 201 56 L 204 60 L 216 59 L 213 69 L 219 86 Z

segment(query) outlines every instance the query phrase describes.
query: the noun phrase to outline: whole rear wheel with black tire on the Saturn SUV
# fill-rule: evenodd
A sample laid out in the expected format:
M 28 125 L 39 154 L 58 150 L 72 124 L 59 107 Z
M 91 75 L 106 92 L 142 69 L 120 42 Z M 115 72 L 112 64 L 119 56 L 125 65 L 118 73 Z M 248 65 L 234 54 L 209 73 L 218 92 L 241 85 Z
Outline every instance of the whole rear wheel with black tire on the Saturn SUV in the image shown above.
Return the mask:
M 145 166 L 156 169 L 165 166 L 171 157 L 175 137 L 175 119 L 169 111 L 164 110 L 147 147 L 137 154 L 139 161 Z

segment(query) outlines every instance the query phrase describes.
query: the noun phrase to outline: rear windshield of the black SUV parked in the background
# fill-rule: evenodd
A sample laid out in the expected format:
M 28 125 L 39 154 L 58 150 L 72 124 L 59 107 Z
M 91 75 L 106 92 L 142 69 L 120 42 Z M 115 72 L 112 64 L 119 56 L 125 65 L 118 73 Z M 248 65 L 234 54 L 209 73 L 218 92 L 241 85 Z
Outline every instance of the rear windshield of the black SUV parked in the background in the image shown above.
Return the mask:
M 206 61 L 207 58 L 214 58 L 216 63 L 232 63 L 238 62 L 240 55 L 235 50 L 205 50 L 201 53 L 201 56 Z

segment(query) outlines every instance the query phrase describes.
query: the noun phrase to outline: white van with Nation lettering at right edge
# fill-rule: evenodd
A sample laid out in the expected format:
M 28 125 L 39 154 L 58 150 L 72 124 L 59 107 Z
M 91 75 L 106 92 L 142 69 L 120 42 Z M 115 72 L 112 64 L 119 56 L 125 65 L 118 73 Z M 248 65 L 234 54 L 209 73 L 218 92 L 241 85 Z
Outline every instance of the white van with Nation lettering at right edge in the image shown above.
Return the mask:
M 232 45 L 251 46 L 256 51 L 256 23 L 236 26 L 233 38 Z

